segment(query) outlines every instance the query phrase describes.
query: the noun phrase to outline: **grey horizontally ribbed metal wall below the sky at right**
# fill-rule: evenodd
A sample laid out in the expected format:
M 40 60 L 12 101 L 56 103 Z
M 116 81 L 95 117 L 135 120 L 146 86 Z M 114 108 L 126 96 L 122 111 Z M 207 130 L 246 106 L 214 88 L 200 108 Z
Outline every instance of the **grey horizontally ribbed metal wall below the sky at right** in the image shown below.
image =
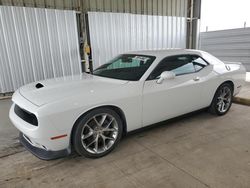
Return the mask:
M 250 28 L 202 32 L 200 49 L 223 61 L 242 62 L 250 71 Z

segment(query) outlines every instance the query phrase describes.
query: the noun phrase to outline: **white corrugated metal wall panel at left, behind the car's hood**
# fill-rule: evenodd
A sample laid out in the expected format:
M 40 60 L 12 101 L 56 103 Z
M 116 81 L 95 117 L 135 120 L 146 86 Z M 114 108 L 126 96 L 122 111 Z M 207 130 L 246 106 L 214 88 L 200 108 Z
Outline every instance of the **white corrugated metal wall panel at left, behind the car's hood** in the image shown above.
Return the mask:
M 81 72 L 75 11 L 0 7 L 0 93 Z

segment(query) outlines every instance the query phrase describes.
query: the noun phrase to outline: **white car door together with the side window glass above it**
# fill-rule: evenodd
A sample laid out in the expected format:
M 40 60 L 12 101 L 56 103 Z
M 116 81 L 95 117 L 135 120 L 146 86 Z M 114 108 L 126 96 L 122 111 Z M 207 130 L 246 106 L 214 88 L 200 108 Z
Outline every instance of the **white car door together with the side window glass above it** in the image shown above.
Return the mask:
M 143 126 L 203 107 L 202 82 L 207 75 L 205 69 L 208 70 L 208 63 L 202 59 L 197 61 L 199 58 L 192 55 L 171 56 L 156 66 L 144 83 Z M 158 84 L 157 80 L 163 71 L 172 71 L 176 76 Z

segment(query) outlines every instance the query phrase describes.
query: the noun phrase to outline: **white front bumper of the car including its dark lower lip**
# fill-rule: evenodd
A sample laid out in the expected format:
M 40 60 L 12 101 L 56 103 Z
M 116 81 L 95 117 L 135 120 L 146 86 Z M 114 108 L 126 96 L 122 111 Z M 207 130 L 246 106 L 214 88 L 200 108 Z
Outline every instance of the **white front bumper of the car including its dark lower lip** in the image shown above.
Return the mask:
M 9 118 L 13 125 L 21 132 L 20 142 L 27 150 L 41 159 L 50 160 L 59 158 L 70 153 L 70 131 L 71 127 L 66 121 L 60 121 L 62 118 L 52 114 L 51 116 L 43 115 L 39 107 L 23 98 L 19 92 L 15 92 L 12 100 Z M 38 125 L 33 125 L 24 118 L 16 114 L 14 108 L 18 105 L 22 109 L 36 115 Z M 64 123 L 65 122 L 65 123 Z M 25 137 L 23 136 L 25 135 Z M 60 139 L 53 139 L 59 135 L 66 135 Z

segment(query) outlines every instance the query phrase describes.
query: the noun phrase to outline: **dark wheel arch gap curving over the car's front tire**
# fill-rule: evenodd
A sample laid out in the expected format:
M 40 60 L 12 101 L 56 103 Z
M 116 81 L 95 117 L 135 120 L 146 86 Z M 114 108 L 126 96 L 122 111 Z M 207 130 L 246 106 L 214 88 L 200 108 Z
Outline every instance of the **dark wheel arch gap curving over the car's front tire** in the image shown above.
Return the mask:
M 81 114 L 77 120 L 74 122 L 74 125 L 71 129 L 71 133 L 70 133 L 70 145 L 71 145 L 71 148 L 73 148 L 73 142 L 72 142 L 72 138 L 73 138 L 73 132 L 74 132 L 74 129 L 76 128 L 76 125 L 77 123 L 80 121 L 80 119 L 85 116 L 87 113 L 95 110 L 95 109 L 99 109 L 99 108 L 109 108 L 109 109 L 112 109 L 114 110 L 118 115 L 119 117 L 121 118 L 122 120 L 122 124 L 123 124 L 123 131 L 122 131 L 122 136 L 125 136 L 127 134 L 127 121 L 126 121 L 126 116 L 123 112 L 123 110 L 115 105 L 102 105 L 102 106 L 97 106 L 97 107 L 93 107 L 89 110 L 87 110 L 86 112 L 83 112 L 83 114 Z

